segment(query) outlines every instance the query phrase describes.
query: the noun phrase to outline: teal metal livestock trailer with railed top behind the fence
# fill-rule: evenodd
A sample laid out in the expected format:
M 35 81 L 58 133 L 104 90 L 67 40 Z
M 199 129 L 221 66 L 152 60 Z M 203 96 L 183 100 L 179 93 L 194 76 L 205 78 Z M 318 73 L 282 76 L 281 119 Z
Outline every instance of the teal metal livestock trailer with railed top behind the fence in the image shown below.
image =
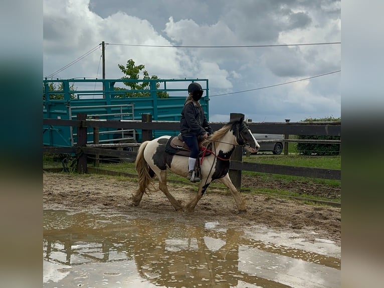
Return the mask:
M 205 90 L 200 102 L 209 119 L 208 79 L 45 79 L 43 117 L 76 119 L 77 113 L 86 113 L 88 119 L 139 121 L 142 114 L 151 114 L 153 121 L 179 121 L 191 82 L 199 82 Z M 145 89 L 135 89 L 137 83 Z M 154 130 L 153 136 L 177 133 Z M 141 141 L 141 130 L 100 128 L 100 143 L 136 141 Z M 72 127 L 43 126 L 45 146 L 71 147 L 76 142 Z M 93 130 L 88 131 L 87 142 L 93 142 Z

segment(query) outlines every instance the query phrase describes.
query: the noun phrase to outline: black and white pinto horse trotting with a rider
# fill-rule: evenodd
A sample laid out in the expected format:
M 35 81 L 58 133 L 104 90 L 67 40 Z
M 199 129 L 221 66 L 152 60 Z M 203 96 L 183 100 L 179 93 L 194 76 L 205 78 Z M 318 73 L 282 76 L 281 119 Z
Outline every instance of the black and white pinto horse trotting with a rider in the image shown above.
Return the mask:
M 158 178 L 158 188 L 166 195 L 176 211 L 184 210 L 180 203 L 169 193 L 166 185 L 166 171 L 186 177 L 188 175 L 188 157 L 166 152 L 171 136 L 164 135 L 141 143 L 135 160 L 139 188 L 132 195 L 132 205 L 138 206 L 144 193 L 154 192 L 154 180 Z M 201 143 L 200 178 L 198 193 L 185 205 L 185 212 L 193 212 L 208 186 L 214 180 L 220 180 L 231 191 L 240 213 L 246 212 L 245 200 L 233 185 L 229 177 L 230 159 L 236 146 L 244 147 L 251 153 L 260 148 L 243 117 L 232 120 L 215 131 Z M 209 152 L 208 155 L 206 152 Z

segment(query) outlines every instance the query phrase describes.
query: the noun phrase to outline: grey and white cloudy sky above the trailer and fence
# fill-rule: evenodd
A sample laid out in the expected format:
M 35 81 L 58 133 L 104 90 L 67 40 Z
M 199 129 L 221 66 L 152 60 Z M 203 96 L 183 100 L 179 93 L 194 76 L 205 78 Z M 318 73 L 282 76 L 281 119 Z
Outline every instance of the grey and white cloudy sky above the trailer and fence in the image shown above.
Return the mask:
M 44 76 L 93 51 L 53 78 L 102 78 L 94 48 L 105 41 L 108 79 L 124 76 L 118 64 L 129 59 L 163 79 L 208 78 L 210 121 L 341 115 L 340 44 L 271 47 L 341 42 L 338 0 L 44 0 L 43 14 Z

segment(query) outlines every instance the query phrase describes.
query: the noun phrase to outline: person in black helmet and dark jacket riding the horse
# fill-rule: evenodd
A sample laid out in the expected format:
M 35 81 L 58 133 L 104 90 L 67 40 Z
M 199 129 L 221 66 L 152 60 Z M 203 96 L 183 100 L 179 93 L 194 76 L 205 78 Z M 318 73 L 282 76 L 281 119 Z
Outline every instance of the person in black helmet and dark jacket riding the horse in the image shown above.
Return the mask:
M 188 86 L 188 96 L 181 111 L 180 132 L 182 139 L 190 148 L 188 158 L 188 177 L 191 182 L 199 182 L 195 176 L 195 164 L 199 155 L 198 137 L 207 139 L 213 130 L 204 114 L 199 100 L 203 96 L 202 86 L 193 82 Z

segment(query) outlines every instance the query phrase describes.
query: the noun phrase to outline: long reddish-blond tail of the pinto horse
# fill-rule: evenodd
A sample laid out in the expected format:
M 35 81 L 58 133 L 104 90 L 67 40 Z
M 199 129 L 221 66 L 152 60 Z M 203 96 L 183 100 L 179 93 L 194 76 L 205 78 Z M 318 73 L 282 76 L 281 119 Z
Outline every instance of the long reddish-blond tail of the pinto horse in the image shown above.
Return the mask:
M 144 150 L 148 143 L 149 141 L 144 141 L 141 143 L 135 161 L 135 168 L 138 175 L 139 191 L 141 193 L 146 192 L 146 190 L 153 191 L 154 189 L 154 182 L 152 179 L 154 177 L 154 172 L 148 166 L 144 159 Z M 152 186 L 152 188 L 150 188 L 149 186 Z

